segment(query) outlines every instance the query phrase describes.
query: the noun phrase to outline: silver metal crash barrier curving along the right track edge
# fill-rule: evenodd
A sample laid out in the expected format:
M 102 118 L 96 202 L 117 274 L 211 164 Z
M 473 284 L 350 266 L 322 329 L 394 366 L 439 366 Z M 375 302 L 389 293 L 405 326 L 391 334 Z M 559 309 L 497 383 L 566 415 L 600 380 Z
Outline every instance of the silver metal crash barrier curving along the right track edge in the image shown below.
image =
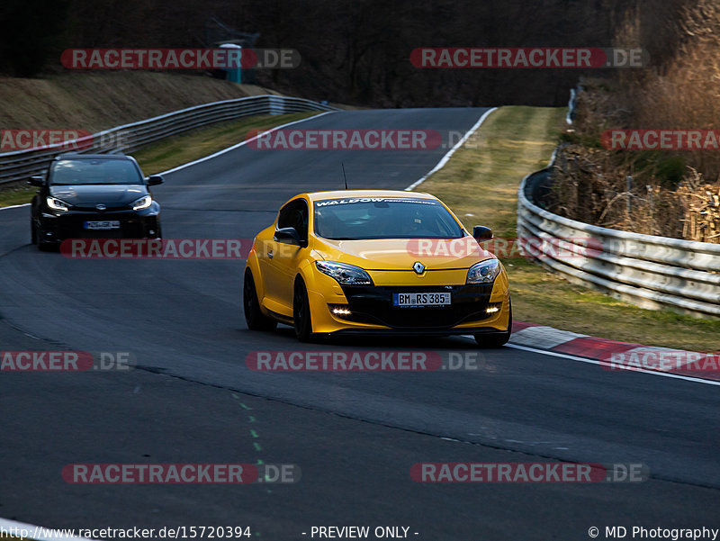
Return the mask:
M 644 308 L 720 317 L 720 244 L 609 230 L 547 212 L 536 203 L 550 172 L 537 171 L 520 184 L 518 237 L 545 239 L 550 246 L 562 246 L 562 240 L 582 247 L 587 241 L 592 249 L 581 257 L 548 250 L 536 257 L 541 265 Z

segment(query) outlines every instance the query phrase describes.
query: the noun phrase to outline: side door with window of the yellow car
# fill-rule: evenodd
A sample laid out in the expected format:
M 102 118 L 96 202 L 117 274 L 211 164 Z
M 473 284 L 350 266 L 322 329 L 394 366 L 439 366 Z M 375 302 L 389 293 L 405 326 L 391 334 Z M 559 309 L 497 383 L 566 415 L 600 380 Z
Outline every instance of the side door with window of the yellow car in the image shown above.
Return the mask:
M 275 230 L 293 227 L 300 238 L 308 239 L 308 203 L 300 198 L 284 205 L 277 216 Z M 267 248 L 267 295 L 284 308 L 284 315 L 293 314 L 293 285 L 297 267 L 302 260 L 302 248 L 273 240 Z

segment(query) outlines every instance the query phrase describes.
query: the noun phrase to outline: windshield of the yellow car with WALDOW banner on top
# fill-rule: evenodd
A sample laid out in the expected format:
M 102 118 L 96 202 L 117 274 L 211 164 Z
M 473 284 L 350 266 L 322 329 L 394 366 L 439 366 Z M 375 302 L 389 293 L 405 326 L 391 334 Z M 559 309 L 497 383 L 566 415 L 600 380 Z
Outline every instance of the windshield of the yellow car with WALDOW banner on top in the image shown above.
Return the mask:
M 359 197 L 315 202 L 315 234 L 325 239 L 459 239 L 464 230 L 431 199 Z

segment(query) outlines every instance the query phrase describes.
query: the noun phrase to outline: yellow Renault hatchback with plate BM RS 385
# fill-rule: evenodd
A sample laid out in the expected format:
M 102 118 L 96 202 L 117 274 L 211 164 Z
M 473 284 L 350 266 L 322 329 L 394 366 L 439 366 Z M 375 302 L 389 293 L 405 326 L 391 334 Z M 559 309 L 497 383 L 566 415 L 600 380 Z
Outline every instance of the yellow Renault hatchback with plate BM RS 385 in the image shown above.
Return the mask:
M 247 256 L 247 327 L 293 326 L 302 341 L 345 334 L 510 337 L 508 276 L 430 194 L 344 190 L 296 195 Z

